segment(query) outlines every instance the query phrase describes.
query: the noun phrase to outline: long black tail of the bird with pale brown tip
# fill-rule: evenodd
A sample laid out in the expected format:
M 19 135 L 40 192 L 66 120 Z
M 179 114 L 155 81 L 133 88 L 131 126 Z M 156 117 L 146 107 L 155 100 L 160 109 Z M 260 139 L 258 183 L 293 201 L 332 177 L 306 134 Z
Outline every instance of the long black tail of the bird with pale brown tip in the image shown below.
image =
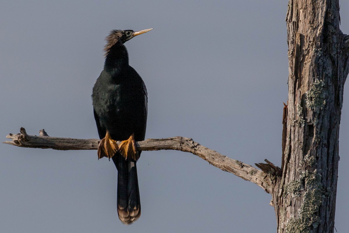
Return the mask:
M 115 159 L 114 159 L 115 158 Z M 113 161 L 118 169 L 118 215 L 122 223 L 132 224 L 141 216 L 136 161 L 115 154 Z

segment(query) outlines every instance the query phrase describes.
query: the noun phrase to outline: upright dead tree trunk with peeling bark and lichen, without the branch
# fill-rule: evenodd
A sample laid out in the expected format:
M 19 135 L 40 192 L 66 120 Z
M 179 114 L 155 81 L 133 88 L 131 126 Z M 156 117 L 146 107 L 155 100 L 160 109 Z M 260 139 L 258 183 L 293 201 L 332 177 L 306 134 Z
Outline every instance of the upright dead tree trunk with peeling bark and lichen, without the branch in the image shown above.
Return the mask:
M 333 232 L 348 36 L 338 0 L 289 0 L 287 129 L 273 187 L 277 232 Z

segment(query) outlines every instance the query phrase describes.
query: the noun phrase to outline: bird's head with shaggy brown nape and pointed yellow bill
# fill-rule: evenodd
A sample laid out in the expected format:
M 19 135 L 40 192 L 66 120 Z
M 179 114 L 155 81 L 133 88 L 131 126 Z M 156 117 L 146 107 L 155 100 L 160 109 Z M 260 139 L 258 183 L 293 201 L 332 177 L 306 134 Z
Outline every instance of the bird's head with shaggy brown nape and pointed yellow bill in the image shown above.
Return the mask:
M 141 35 L 143 33 L 146 33 L 147 31 L 150 31 L 153 28 L 145 29 L 141 31 L 133 31 L 133 30 L 112 30 L 109 34 L 109 36 L 105 37 L 105 41 L 107 42 L 104 46 L 104 51 L 107 54 L 110 50 L 110 48 L 118 43 L 121 42 L 124 44 L 126 41 L 129 41 L 133 37 L 137 35 Z

